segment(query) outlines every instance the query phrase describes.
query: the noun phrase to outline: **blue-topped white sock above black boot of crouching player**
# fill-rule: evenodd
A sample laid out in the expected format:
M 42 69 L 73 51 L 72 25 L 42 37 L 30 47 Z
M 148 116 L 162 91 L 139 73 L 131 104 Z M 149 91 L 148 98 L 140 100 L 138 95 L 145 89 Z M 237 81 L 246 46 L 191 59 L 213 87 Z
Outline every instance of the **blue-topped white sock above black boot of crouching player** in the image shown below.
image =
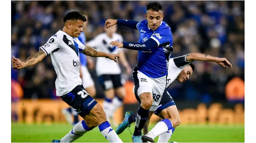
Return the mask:
M 161 135 L 172 129 L 172 122 L 168 119 L 161 120 L 158 122 L 152 130 L 146 134 L 151 139 L 155 139 L 158 135 Z

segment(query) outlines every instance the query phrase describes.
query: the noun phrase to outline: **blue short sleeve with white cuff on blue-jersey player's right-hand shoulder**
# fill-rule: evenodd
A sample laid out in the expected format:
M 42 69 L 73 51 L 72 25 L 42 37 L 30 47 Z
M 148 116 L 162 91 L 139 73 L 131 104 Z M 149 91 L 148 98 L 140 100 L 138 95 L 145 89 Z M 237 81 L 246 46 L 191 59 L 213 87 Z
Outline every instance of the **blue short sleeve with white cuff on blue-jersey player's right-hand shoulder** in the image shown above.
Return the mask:
M 164 28 L 154 32 L 150 38 L 154 39 L 159 46 L 166 42 L 170 42 L 170 39 L 172 38 L 172 32 L 169 28 Z

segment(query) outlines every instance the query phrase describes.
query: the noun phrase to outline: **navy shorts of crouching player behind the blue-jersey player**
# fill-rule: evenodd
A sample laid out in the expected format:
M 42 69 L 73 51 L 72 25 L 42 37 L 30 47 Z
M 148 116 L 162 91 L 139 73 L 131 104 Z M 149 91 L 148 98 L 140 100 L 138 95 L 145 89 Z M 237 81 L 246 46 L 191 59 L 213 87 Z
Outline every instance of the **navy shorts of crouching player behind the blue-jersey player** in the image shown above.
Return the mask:
M 134 88 L 134 93 L 135 93 L 135 97 L 137 99 L 137 101 L 139 103 L 140 102 L 140 99 L 139 99 L 139 96 L 136 92 L 136 89 Z M 164 109 L 170 107 L 170 106 L 173 106 L 173 105 L 176 105 L 175 102 L 173 101 L 171 95 L 168 93 L 168 91 L 165 89 L 164 90 L 164 93 L 163 93 L 163 96 L 161 98 L 161 101 L 159 103 L 159 106 L 157 107 L 156 111 L 154 112 L 154 114 L 158 115 L 161 111 L 163 111 Z

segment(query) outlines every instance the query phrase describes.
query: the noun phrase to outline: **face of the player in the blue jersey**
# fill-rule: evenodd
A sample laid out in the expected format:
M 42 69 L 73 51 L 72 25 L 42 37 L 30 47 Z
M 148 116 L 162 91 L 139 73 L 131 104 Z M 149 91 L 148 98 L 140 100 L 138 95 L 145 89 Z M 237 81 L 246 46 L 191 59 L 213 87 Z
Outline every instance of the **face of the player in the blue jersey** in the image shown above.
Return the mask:
M 162 11 L 153 11 L 150 9 L 145 14 L 145 18 L 148 21 L 148 27 L 151 30 L 157 30 L 157 28 L 160 26 L 161 22 L 163 21 L 164 14 Z

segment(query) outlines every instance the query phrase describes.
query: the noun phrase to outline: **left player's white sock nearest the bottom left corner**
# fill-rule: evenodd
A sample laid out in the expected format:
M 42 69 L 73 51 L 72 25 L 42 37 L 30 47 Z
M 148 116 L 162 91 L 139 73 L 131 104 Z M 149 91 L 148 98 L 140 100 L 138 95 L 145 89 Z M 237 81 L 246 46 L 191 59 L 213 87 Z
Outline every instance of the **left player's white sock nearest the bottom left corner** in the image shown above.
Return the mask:
M 77 123 L 74 128 L 68 132 L 62 139 L 61 143 L 72 143 L 79 137 L 83 136 L 86 132 L 90 131 L 89 127 L 85 124 L 84 120 Z

